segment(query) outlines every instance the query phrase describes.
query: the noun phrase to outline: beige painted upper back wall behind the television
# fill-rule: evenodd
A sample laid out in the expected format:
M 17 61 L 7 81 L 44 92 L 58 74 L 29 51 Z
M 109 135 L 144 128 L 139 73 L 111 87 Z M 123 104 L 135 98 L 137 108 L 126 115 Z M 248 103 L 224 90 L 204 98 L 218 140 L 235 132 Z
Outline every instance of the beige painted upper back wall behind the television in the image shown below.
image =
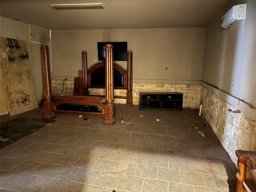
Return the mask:
M 76 77 L 82 50 L 88 54 L 88 67 L 98 62 L 97 42 L 127 41 L 133 52 L 133 82 L 199 84 L 204 39 L 205 28 L 52 30 L 52 79 Z M 126 69 L 126 62 L 117 63 Z

